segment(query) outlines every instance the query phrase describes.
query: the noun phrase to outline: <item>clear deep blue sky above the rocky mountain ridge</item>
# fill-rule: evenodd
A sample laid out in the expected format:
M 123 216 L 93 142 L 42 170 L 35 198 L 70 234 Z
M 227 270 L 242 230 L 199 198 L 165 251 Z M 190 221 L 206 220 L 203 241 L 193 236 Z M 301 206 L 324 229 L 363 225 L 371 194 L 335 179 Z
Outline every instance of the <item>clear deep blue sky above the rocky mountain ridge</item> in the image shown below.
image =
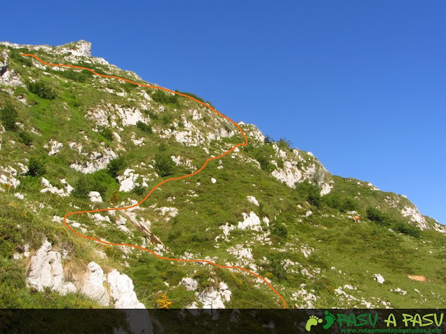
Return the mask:
M 89 40 L 446 223 L 444 1 L 128 2 L 6 1 L 0 40 Z

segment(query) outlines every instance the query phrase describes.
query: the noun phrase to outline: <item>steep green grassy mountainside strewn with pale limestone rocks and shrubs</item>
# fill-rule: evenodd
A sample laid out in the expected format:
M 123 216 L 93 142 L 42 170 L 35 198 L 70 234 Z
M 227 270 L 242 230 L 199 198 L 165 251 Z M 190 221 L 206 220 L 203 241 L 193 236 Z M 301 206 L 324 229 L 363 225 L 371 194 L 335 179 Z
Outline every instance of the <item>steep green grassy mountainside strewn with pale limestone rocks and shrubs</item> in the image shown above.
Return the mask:
M 134 308 L 137 333 L 178 330 L 145 307 L 446 307 L 446 228 L 406 196 L 240 120 L 231 150 L 238 127 L 203 104 L 22 53 L 157 87 L 83 40 L 0 42 L 1 287 L 26 296 L 0 307 Z

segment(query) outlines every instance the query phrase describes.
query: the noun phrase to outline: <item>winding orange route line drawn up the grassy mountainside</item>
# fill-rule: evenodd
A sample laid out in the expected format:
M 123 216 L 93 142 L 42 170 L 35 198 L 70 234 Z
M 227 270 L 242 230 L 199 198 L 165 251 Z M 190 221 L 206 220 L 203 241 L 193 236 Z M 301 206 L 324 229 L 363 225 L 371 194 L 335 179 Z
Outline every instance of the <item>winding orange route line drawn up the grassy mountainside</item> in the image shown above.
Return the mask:
M 137 83 L 137 82 L 130 81 L 130 80 L 128 80 L 128 79 L 124 79 L 124 78 L 121 78 L 121 77 L 116 77 L 116 76 L 114 76 L 114 75 L 100 74 L 100 73 L 97 73 L 97 72 L 91 70 L 91 68 L 87 68 L 87 67 L 75 66 L 75 65 L 67 65 L 67 64 L 52 64 L 52 63 L 45 63 L 45 61 L 42 61 L 38 56 L 36 56 L 36 55 L 34 55 L 34 54 L 20 54 L 20 56 L 31 56 L 31 57 L 34 57 L 34 58 L 36 58 L 38 61 L 40 61 L 40 63 L 43 63 L 43 64 L 45 64 L 45 65 L 49 65 L 49 66 L 59 66 L 59 67 L 73 67 L 73 68 L 78 68 L 79 70 L 87 70 L 87 71 L 90 71 L 90 72 L 92 72 L 93 74 L 98 75 L 99 77 L 114 78 L 114 79 L 118 79 L 118 80 L 122 80 L 122 81 L 127 81 L 127 82 L 130 82 L 130 84 L 134 84 L 134 85 L 138 85 L 138 86 L 144 86 L 144 87 L 147 87 L 147 88 L 155 88 L 155 89 L 166 90 L 167 92 L 174 93 L 174 94 L 176 94 L 176 95 L 181 95 L 181 96 L 183 96 L 183 97 L 187 97 L 187 98 L 190 99 L 190 100 L 193 100 L 193 101 L 195 101 L 195 102 L 198 102 L 199 104 L 203 104 L 203 106 L 206 106 L 207 108 L 209 108 L 209 109 L 212 110 L 213 112 L 215 112 L 215 113 L 217 113 L 218 115 L 220 115 L 220 116 L 226 118 L 226 120 L 229 120 L 230 122 L 232 122 L 233 125 L 236 125 L 236 127 L 240 130 L 240 133 L 243 135 L 243 138 L 245 138 L 245 143 L 238 143 L 237 145 L 233 146 L 233 148 L 231 148 L 231 150 L 227 150 L 226 152 L 220 154 L 220 155 L 217 156 L 217 157 L 211 157 L 211 158 L 207 159 L 207 160 L 205 161 L 205 163 L 203 164 L 203 166 L 201 166 L 201 168 L 200 168 L 199 170 L 196 170 L 194 173 L 190 173 L 190 174 L 183 175 L 183 176 L 179 176 L 179 177 L 171 177 L 171 178 L 169 178 L 169 179 L 163 180 L 162 182 L 160 182 L 160 183 L 158 183 L 156 186 L 154 186 L 154 187 L 151 189 L 151 191 L 149 191 L 149 193 L 147 194 L 147 196 L 144 197 L 144 198 L 143 198 L 142 200 L 140 200 L 139 202 L 137 202 L 137 204 L 130 205 L 129 207 L 112 207 L 112 208 L 109 208 L 109 209 L 95 209 L 95 210 L 86 210 L 86 211 L 70 212 L 70 213 L 66 214 L 65 216 L 63 216 L 63 223 L 66 225 L 66 227 L 67 227 L 69 230 L 71 230 L 71 232 L 73 232 L 73 233 L 76 234 L 77 236 L 82 237 L 82 238 L 84 238 L 84 239 L 91 239 L 91 240 L 93 240 L 93 241 L 100 242 L 101 244 L 111 245 L 111 246 L 129 246 L 129 247 L 138 248 L 138 249 L 141 249 L 141 250 L 146 250 L 147 252 L 152 253 L 153 255 L 155 255 L 156 257 L 158 257 L 159 259 L 162 259 L 162 260 L 170 260 L 170 261 L 178 261 L 178 262 L 206 262 L 206 263 L 208 263 L 208 264 L 213 264 L 215 267 L 227 268 L 227 269 L 239 269 L 239 270 L 246 271 L 247 273 L 249 273 L 249 274 L 252 275 L 252 276 L 256 276 L 256 277 L 258 277 L 258 278 L 261 278 L 261 280 L 263 280 L 263 282 L 265 282 L 266 285 L 268 285 L 268 287 L 269 287 L 273 292 L 275 292 L 275 294 L 277 294 L 277 296 L 279 296 L 280 299 L 282 299 L 282 302 L 284 303 L 284 308 L 286 308 L 286 301 L 285 301 L 284 297 L 282 297 L 282 295 L 279 294 L 279 292 L 277 292 L 276 289 L 275 289 L 274 287 L 272 287 L 272 285 L 271 285 L 270 283 L 268 283 L 268 281 L 267 281 L 264 277 L 262 277 L 262 276 L 260 276 L 260 275 L 258 275 L 258 274 L 256 274 L 256 273 L 253 273 L 252 271 L 249 271 L 249 270 L 247 270 L 247 269 L 245 269 L 245 268 L 242 268 L 242 267 L 235 267 L 235 266 L 223 266 L 222 264 L 217 264 L 217 263 L 215 263 L 215 262 L 211 262 L 211 261 L 208 261 L 208 260 L 184 260 L 184 259 L 174 259 L 174 258 L 172 258 L 172 257 L 163 257 L 163 256 L 160 256 L 160 255 L 157 255 L 153 250 L 148 249 L 148 248 L 144 248 L 144 247 L 141 247 L 141 246 L 130 245 L 130 244 L 115 244 L 115 243 L 113 243 L 113 242 L 102 241 L 102 240 L 99 240 L 99 239 L 96 239 L 96 238 L 93 238 L 93 237 L 87 237 L 86 235 L 77 233 L 75 230 L 72 229 L 72 227 L 71 227 L 70 225 L 68 225 L 68 223 L 66 223 L 66 218 L 67 218 L 68 216 L 71 216 L 72 214 L 86 214 L 86 213 L 91 213 L 91 212 L 102 212 L 102 211 L 111 211 L 111 210 L 125 210 L 125 209 L 131 209 L 132 207 L 137 207 L 137 206 L 140 205 L 142 202 L 144 202 L 144 200 L 146 200 L 149 196 L 151 196 L 151 194 L 153 193 L 153 191 L 155 191 L 155 189 L 157 189 L 157 188 L 158 188 L 159 186 L 161 186 L 162 184 L 164 184 L 164 183 L 166 183 L 166 182 L 169 182 L 169 181 L 181 180 L 181 179 L 185 179 L 186 177 L 191 177 L 191 176 L 193 176 L 193 175 L 197 175 L 198 173 L 201 172 L 201 170 L 203 170 L 203 169 L 206 167 L 206 165 L 208 164 L 209 161 L 211 161 L 211 160 L 215 160 L 215 159 L 220 159 L 221 157 L 224 157 L 226 154 L 228 154 L 228 153 L 232 152 L 233 150 L 235 150 L 238 146 L 246 146 L 246 145 L 247 145 L 248 140 L 247 140 L 247 138 L 246 138 L 246 136 L 245 136 L 245 133 L 243 132 L 242 128 L 240 127 L 240 125 L 238 125 L 236 122 L 234 122 L 233 120 L 231 120 L 231 118 L 229 118 L 229 117 L 227 117 L 227 116 L 224 116 L 224 115 L 223 115 L 222 113 L 220 113 L 219 111 L 213 109 L 212 106 L 209 106 L 208 104 L 206 104 L 206 103 L 204 103 L 204 102 L 201 102 L 201 101 L 199 101 L 199 100 L 197 100 L 197 99 L 194 99 L 194 97 L 190 97 L 189 95 L 185 95 L 185 94 L 182 94 L 182 93 L 175 92 L 174 90 L 170 90 L 170 89 L 163 88 L 163 87 L 158 87 L 158 86 L 149 86 L 149 85 L 139 84 L 139 83 Z

